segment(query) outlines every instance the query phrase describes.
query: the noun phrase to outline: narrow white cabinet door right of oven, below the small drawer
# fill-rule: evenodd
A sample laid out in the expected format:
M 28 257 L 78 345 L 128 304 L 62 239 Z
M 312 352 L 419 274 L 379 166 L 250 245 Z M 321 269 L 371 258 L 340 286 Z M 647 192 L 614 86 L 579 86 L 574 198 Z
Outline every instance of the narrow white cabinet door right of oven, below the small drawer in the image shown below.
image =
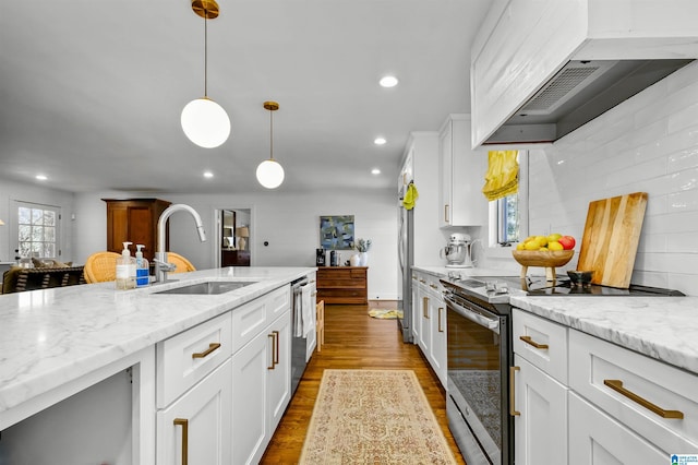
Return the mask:
M 513 408 L 517 465 L 567 463 L 567 388 L 519 355 Z

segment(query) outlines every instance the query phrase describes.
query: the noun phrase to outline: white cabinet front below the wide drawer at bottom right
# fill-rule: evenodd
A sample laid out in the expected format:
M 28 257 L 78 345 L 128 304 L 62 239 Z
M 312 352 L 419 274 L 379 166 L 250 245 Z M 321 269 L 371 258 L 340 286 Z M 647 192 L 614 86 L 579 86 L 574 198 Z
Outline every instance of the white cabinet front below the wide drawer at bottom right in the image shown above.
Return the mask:
M 669 453 L 569 393 L 569 464 L 669 464 Z M 684 453 L 672 451 L 672 453 Z

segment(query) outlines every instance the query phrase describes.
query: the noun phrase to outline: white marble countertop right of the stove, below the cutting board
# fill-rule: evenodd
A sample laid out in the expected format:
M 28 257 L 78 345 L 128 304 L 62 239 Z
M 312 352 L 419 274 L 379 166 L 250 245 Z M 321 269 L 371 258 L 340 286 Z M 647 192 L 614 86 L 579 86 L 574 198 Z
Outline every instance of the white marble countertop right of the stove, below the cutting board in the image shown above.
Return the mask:
M 698 297 L 528 297 L 537 315 L 698 374 Z

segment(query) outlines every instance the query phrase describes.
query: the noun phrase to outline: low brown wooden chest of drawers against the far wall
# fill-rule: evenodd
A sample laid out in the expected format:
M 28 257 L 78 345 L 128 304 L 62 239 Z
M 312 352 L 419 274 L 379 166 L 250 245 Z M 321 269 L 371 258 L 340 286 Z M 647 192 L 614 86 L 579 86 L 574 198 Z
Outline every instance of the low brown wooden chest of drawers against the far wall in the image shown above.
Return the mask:
M 368 266 L 321 266 L 317 269 L 317 301 L 369 303 Z

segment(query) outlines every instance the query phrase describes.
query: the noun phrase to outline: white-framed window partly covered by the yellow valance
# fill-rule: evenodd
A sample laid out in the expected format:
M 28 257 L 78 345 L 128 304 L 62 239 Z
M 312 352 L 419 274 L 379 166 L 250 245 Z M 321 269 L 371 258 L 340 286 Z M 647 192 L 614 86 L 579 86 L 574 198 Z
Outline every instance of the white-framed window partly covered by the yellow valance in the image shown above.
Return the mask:
M 518 192 L 490 202 L 490 247 L 507 247 L 528 235 L 528 152 L 519 151 Z

